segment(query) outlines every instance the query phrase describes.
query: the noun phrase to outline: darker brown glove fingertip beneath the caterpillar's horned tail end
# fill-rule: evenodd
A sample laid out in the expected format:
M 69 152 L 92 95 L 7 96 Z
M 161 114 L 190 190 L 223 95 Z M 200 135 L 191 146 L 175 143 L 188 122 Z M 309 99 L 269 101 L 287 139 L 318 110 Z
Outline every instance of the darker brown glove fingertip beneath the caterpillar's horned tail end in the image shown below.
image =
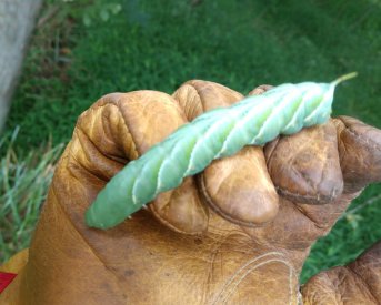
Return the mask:
M 332 121 L 281 136 L 264 153 L 271 179 L 285 199 L 324 204 L 341 195 L 343 177 Z

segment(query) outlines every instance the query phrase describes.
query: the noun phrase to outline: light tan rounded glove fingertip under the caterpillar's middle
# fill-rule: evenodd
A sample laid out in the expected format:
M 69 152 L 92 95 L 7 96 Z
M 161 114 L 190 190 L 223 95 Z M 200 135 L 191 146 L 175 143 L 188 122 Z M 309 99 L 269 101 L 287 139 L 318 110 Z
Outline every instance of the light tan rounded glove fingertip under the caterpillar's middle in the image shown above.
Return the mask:
M 209 205 L 233 223 L 257 226 L 278 213 L 279 199 L 262 148 L 247 146 L 233 156 L 212 162 L 199 183 Z

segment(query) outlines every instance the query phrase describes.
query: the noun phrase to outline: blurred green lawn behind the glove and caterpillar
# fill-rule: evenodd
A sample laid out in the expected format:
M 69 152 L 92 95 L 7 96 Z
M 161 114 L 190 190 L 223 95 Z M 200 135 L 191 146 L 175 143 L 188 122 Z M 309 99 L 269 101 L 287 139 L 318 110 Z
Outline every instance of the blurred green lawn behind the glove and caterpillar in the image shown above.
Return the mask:
M 103 94 L 171 93 L 190 79 L 248 93 L 263 83 L 328 82 L 358 71 L 338 89 L 333 114 L 381 128 L 380 16 L 380 0 L 47 0 L 2 135 L 1 160 L 13 167 L 26 160 L 33 175 L 36 156 L 51 167 L 57 157 L 47 145 L 57 152 L 59 143 L 67 143 L 78 115 Z M 7 173 L 13 175 L 7 187 L 21 187 L 19 172 Z M 42 202 L 49 179 L 33 184 L 41 195 L 22 204 L 20 216 L 12 210 L 17 197 L 7 204 L 0 226 L 20 223 L 13 235 L 1 233 L 1 261 L 28 244 L 38 215 L 28 206 Z M 380 191 L 380 185 L 367 189 L 350 206 L 353 212 L 313 246 L 302 282 L 353 260 L 381 238 Z

